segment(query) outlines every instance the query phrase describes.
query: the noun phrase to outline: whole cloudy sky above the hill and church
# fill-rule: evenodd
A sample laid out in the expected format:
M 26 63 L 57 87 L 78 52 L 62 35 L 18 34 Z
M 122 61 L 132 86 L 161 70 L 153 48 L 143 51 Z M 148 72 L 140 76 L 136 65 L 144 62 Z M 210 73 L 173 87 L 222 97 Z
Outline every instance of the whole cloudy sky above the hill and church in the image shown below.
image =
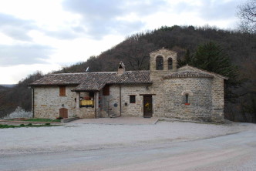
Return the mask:
M 245 0 L 0 0 L 0 84 L 99 55 L 162 25 L 235 29 Z

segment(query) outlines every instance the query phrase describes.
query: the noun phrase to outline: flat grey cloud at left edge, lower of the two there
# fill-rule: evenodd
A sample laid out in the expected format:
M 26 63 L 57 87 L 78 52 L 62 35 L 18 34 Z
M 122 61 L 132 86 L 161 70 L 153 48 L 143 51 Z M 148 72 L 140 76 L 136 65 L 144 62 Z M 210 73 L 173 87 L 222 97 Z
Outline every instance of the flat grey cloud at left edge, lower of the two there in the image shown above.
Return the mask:
M 45 45 L 0 45 L 0 66 L 46 63 L 52 51 Z

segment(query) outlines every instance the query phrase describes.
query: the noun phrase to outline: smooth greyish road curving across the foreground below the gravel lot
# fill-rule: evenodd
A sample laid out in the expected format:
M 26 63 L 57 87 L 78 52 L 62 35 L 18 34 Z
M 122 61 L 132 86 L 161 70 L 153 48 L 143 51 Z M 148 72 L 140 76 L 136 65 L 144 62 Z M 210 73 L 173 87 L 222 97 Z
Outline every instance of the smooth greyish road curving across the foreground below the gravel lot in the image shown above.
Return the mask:
M 0 157 L 0 170 L 254 170 L 256 132 L 211 139 Z

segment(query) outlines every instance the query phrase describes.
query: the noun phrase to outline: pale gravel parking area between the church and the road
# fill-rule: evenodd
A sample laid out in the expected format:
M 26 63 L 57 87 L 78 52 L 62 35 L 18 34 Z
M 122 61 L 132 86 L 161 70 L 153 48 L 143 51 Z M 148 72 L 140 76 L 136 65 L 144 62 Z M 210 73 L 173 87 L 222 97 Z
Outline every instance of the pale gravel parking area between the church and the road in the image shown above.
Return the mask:
M 163 121 L 143 125 L 71 122 L 56 127 L 1 129 L 0 155 L 189 141 L 240 132 L 250 126 Z

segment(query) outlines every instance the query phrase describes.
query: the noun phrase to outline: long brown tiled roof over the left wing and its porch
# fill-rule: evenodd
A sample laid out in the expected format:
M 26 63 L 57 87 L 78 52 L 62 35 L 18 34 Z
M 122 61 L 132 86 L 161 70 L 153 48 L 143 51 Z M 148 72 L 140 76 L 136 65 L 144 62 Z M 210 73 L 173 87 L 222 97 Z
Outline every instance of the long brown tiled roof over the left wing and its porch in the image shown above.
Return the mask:
M 128 71 L 123 75 L 116 72 L 83 72 L 49 74 L 32 82 L 30 86 L 76 85 L 73 91 L 99 91 L 106 84 L 151 84 L 150 71 Z

